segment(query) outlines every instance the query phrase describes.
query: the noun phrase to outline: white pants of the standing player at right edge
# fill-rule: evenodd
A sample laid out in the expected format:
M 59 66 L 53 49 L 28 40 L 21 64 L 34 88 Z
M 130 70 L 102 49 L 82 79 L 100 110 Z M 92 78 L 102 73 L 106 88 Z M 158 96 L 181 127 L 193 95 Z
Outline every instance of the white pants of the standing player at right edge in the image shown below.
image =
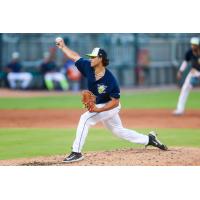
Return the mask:
M 178 103 L 177 103 L 177 111 L 184 112 L 185 110 L 185 104 L 188 98 L 188 95 L 193 88 L 191 84 L 191 78 L 192 77 L 200 77 L 200 72 L 192 69 L 189 74 L 187 75 L 185 82 L 181 88 L 181 93 L 179 95 Z

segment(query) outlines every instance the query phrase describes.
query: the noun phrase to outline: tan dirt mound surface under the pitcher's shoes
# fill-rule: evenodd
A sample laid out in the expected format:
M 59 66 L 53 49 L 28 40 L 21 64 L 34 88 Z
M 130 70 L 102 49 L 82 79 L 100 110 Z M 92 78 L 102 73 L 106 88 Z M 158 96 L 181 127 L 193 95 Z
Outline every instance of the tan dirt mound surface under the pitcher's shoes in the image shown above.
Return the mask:
M 200 166 L 200 148 L 170 148 L 161 151 L 149 149 L 123 149 L 84 154 L 85 159 L 65 164 L 63 156 L 2 160 L 0 165 L 20 166 Z

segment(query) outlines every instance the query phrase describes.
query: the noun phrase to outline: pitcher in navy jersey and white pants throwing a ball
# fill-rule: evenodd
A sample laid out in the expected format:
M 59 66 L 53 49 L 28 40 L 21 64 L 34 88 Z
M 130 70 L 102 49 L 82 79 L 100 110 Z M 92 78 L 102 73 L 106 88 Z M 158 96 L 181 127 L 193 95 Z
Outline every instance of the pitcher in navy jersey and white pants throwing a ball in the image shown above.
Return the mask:
M 144 135 L 123 127 L 119 116 L 121 109 L 120 88 L 113 74 L 107 69 L 109 59 L 103 49 L 94 48 L 91 54 L 87 54 L 90 58 L 87 60 L 69 49 L 62 38 L 56 39 L 56 46 L 75 62 L 78 70 L 87 78 L 88 84 L 88 91 L 83 91 L 82 98 L 88 111 L 80 117 L 72 153 L 63 162 L 70 163 L 84 158 L 81 150 L 88 130 L 98 122 L 102 122 L 108 130 L 120 138 L 133 143 L 146 146 L 152 145 L 161 150 L 167 150 L 167 147 L 157 139 L 155 132 Z

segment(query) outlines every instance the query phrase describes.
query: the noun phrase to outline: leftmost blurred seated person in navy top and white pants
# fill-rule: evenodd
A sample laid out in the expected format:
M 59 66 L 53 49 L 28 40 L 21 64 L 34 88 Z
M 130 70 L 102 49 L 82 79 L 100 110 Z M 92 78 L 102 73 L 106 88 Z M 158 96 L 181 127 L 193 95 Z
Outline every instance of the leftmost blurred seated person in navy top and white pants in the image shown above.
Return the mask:
M 12 53 L 12 60 L 5 69 L 9 86 L 12 89 L 21 88 L 27 89 L 33 79 L 29 72 L 22 72 L 22 65 L 20 63 L 20 55 L 18 52 Z

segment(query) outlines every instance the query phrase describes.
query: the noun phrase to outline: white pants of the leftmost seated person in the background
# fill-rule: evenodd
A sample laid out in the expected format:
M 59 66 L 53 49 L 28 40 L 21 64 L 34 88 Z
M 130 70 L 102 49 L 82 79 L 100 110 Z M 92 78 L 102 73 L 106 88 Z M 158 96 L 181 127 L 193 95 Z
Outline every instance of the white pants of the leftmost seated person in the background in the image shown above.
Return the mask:
M 8 73 L 8 81 L 11 88 L 16 88 L 16 81 L 21 81 L 21 87 L 23 89 L 27 88 L 32 80 L 32 75 L 28 72 L 10 72 Z

